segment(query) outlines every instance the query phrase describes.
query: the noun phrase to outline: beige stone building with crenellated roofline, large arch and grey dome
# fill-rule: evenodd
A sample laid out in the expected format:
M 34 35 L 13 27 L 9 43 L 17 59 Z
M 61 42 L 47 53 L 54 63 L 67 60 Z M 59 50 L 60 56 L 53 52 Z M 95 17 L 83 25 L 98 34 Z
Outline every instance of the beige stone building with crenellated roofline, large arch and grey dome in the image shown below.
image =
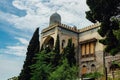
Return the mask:
M 100 23 L 77 29 L 61 23 L 61 16 L 54 13 L 50 16 L 49 26 L 41 32 L 41 46 L 55 46 L 57 35 L 60 37 L 60 51 L 67 45 L 68 39 L 72 38 L 75 44 L 76 59 L 80 66 L 80 74 L 94 71 L 103 72 L 103 49 L 99 43 L 102 37 L 97 33 Z M 109 61 L 109 59 L 107 59 Z M 106 61 L 107 63 L 107 61 Z M 106 65 L 107 67 L 108 64 Z

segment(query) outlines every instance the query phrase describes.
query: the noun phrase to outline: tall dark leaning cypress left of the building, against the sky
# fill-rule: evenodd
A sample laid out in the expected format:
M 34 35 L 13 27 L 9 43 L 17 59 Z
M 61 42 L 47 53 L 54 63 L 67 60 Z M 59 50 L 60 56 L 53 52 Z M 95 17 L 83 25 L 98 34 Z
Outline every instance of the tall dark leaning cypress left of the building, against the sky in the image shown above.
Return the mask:
M 31 78 L 31 69 L 30 65 L 34 64 L 36 60 L 34 59 L 36 53 L 39 52 L 40 43 L 39 43 L 39 28 L 33 34 L 32 39 L 27 48 L 26 60 L 23 65 L 23 69 L 18 77 L 18 80 L 30 80 Z

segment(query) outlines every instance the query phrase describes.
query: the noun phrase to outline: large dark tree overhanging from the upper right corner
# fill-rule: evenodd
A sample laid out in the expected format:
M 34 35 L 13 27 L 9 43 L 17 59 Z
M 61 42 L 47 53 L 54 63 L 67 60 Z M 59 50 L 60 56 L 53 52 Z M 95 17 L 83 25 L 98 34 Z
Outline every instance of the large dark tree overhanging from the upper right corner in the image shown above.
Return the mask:
M 119 40 L 113 34 L 119 29 L 119 24 L 112 17 L 120 14 L 120 0 L 87 0 L 90 11 L 86 12 L 86 18 L 95 23 L 101 23 L 98 33 L 105 37 L 100 42 L 106 45 L 105 52 L 115 55 L 119 52 Z

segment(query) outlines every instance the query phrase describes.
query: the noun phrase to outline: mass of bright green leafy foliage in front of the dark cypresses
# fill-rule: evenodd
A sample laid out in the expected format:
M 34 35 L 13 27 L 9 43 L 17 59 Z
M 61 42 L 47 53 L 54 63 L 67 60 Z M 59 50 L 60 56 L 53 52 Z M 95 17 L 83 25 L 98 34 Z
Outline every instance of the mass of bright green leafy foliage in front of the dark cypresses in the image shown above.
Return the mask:
M 37 62 L 31 66 L 33 70 L 31 80 L 74 80 L 77 78 L 77 66 L 70 66 L 67 58 L 64 58 L 61 64 L 54 67 L 52 64 L 54 55 L 54 52 L 46 53 L 46 50 L 37 55 Z

